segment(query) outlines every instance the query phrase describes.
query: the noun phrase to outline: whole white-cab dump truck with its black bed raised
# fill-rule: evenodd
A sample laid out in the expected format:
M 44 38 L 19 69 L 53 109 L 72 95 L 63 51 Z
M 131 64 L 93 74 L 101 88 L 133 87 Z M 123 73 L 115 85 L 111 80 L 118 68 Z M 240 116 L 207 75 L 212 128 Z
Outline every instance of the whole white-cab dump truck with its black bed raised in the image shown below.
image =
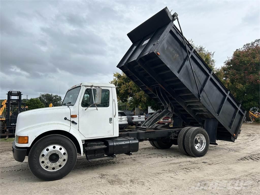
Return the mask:
M 184 155 L 202 157 L 216 140 L 234 142 L 245 110 L 175 26 L 176 20 L 178 15 L 166 7 L 128 33 L 133 44 L 117 65 L 160 107 L 141 126 L 119 132 L 113 84 L 76 84 L 62 106 L 18 115 L 14 159 L 22 162 L 28 156 L 31 172 L 50 181 L 73 169 L 77 153 L 90 162 L 112 160 L 117 154 L 132 155 L 140 142 L 149 141 L 158 149 L 178 145 Z M 157 124 L 165 116 L 173 118 L 173 127 Z

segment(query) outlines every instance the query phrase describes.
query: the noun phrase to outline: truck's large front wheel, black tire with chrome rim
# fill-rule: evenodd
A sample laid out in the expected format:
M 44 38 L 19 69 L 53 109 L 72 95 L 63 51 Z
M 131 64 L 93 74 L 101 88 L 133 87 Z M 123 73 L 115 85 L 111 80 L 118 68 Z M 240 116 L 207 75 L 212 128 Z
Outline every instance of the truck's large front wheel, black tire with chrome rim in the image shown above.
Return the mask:
M 77 150 L 74 143 L 63 135 L 47 135 L 38 140 L 28 155 L 31 172 L 45 181 L 66 176 L 75 166 Z

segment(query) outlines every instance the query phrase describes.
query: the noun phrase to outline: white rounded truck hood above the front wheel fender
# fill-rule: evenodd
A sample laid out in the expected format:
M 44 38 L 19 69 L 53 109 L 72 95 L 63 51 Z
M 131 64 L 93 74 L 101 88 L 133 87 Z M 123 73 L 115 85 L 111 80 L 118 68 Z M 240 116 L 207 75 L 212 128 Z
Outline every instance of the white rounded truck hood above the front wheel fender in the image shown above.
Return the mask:
M 17 117 L 15 134 L 20 135 L 21 131 L 24 132 L 29 128 L 36 128 L 43 124 L 64 123 L 64 117 L 70 119 L 70 108 L 67 106 L 38 108 L 21 112 Z M 70 123 L 68 124 L 70 125 Z

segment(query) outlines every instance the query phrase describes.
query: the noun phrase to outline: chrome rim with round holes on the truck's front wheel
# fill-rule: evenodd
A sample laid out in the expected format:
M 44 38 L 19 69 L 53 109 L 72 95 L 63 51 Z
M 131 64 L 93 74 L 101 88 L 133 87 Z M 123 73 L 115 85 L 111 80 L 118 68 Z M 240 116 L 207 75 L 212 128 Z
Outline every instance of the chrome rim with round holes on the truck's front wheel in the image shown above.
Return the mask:
M 57 171 L 67 162 L 66 149 L 60 145 L 49 145 L 40 154 L 40 165 L 46 171 Z

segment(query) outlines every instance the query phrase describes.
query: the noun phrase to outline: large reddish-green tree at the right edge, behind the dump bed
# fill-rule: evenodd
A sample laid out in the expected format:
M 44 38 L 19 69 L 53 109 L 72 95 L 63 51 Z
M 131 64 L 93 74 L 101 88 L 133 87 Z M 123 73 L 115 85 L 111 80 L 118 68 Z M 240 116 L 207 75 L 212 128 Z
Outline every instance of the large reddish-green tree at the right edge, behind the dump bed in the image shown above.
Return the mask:
M 259 108 L 260 39 L 245 44 L 220 68 L 225 86 L 246 110 Z

